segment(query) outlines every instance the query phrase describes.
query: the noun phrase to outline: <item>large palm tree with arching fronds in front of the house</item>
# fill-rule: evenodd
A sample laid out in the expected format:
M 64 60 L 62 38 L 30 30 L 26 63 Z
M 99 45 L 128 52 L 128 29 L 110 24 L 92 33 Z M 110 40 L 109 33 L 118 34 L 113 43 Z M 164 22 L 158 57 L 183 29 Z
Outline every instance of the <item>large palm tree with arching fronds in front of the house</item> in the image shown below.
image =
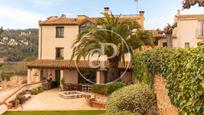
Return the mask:
M 111 57 L 114 48 L 111 46 L 101 46 L 101 43 L 114 44 L 117 47 L 117 54 L 108 58 L 108 82 L 119 77 L 118 64 L 120 61 L 125 62 L 124 54 L 133 54 L 133 49 L 140 48 L 143 45 L 152 45 L 151 33 L 141 29 L 136 21 L 121 19 L 120 16 L 115 17 L 112 14 L 104 14 L 104 17 L 97 20 L 100 26 L 90 26 L 82 31 L 76 41 L 73 43 L 72 59 L 89 58 L 94 54 L 101 56 L 100 50 L 104 48 L 104 55 Z M 117 33 L 117 34 L 116 34 Z M 120 38 L 123 38 L 121 40 Z M 128 45 L 128 47 L 125 47 Z

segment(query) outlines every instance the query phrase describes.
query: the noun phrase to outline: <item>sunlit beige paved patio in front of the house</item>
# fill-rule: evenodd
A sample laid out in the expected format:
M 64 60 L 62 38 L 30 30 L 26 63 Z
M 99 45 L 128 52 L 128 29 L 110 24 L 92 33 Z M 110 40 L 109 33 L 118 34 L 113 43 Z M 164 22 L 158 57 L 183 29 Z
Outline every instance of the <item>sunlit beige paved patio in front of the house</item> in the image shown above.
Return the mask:
M 23 105 L 23 109 L 18 108 L 17 111 L 98 110 L 90 107 L 84 98 L 63 99 L 58 93 L 59 89 L 53 89 L 34 95 Z

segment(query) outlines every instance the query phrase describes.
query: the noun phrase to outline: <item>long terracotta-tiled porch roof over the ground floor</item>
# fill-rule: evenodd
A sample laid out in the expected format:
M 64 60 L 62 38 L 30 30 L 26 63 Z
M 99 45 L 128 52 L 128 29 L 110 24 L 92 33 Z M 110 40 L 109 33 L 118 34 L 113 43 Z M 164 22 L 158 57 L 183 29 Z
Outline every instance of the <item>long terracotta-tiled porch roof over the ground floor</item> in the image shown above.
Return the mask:
M 90 63 L 93 65 L 100 64 L 99 61 L 88 61 L 88 60 L 35 60 L 30 62 L 27 67 L 28 68 L 59 68 L 59 69 L 75 69 L 76 67 L 80 69 L 89 69 L 92 68 Z M 109 63 L 106 61 L 104 66 L 108 68 Z M 118 66 L 120 69 L 132 69 L 132 64 L 129 62 L 119 63 Z

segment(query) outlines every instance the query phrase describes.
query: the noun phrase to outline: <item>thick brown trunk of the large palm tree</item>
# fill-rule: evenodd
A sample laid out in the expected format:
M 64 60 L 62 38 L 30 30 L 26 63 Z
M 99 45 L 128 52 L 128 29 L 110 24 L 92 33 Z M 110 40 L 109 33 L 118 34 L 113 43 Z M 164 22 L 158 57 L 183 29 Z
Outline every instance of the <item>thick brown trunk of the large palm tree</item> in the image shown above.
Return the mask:
M 120 71 L 118 69 L 118 64 L 119 64 L 119 57 L 114 57 L 111 59 L 108 59 L 109 61 L 109 68 L 108 68 L 108 82 L 114 82 L 120 77 Z

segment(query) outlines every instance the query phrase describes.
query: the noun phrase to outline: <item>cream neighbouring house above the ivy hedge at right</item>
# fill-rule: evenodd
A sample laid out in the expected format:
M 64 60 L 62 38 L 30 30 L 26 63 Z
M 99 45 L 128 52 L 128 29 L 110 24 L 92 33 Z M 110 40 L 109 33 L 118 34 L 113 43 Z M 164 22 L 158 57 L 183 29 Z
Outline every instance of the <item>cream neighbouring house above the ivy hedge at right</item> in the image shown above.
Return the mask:
M 204 14 L 175 16 L 177 27 L 173 31 L 173 47 L 189 48 L 204 44 Z M 158 40 L 158 46 L 166 46 L 165 37 Z

